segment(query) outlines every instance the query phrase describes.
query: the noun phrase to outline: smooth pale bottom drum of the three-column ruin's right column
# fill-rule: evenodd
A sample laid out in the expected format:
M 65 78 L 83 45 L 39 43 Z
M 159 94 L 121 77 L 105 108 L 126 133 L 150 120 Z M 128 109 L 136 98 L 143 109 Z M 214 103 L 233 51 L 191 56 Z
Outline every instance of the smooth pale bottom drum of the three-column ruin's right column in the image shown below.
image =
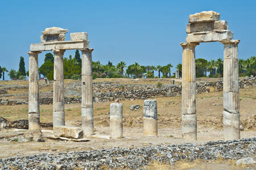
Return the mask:
M 82 129 L 85 135 L 93 135 L 93 108 L 82 108 Z

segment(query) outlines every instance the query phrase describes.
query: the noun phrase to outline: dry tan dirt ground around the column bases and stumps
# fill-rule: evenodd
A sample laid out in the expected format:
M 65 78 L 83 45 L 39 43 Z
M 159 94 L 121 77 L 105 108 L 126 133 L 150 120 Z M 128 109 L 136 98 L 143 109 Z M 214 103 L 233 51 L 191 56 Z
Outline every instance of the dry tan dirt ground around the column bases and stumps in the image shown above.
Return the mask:
M 240 89 L 241 138 L 254 137 L 256 120 L 256 88 Z M 33 155 L 48 152 L 94 150 L 112 147 L 138 147 L 177 143 L 201 143 L 223 140 L 222 137 L 222 92 L 197 95 L 197 138 L 198 141 L 184 141 L 181 138 L 181 96 L 156 98 L 158 103 L 158 137 L 143 137 L 143 100 L 120 101 L 123 103 L 122 139 L 86 137 L 89 142 L 63 142 L 48 139 L 47 142 L 0 142 L 0 158 Z M 109 135 L 110 103 L 94 103 L 95 133 L 102 137 Z M 130 105 L 141 108 L 130 111 Z M 27 119 L 28 105 L 1 105 L 0 116 L 9 120 Z M 41 122 L 52 122 L 52 105 L 40 105 Z M 65 121 L 69 126 L 81 126 L 80 104 L 65 105 Z M 51 135 L 48 129 L 44 135 Z M 15 129 L 0 131 L 2 136 L 15 136 L 24 131 Z

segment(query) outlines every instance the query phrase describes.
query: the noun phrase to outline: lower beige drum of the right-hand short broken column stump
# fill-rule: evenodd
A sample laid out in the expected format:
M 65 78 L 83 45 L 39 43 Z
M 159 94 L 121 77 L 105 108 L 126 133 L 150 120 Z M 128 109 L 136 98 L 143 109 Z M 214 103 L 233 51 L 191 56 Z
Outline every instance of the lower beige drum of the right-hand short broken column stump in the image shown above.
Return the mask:
M 158 121 L 152 117 L 143 117 L 144 137 L 158 136 Z

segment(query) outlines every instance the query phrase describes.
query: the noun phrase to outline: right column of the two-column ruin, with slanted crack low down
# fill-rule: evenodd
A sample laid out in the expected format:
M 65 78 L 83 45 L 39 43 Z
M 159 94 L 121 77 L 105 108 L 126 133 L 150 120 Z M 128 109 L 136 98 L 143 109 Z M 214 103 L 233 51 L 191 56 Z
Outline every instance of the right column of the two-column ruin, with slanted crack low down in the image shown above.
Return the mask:
M 223 40 L 223 133 L 225 140 L 240 139 L 238 43 Z

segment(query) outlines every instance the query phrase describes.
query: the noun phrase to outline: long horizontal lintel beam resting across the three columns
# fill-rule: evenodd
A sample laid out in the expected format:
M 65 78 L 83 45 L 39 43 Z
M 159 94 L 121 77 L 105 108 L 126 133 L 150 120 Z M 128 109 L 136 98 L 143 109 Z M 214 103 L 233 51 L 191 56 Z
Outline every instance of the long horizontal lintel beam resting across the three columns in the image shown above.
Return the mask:
M 31 44 L 30 51 L 49 51 L 49 50 L 69 50 L 69 49 L 89 49 L 89 41 L 54 41 L 38 44 Z

